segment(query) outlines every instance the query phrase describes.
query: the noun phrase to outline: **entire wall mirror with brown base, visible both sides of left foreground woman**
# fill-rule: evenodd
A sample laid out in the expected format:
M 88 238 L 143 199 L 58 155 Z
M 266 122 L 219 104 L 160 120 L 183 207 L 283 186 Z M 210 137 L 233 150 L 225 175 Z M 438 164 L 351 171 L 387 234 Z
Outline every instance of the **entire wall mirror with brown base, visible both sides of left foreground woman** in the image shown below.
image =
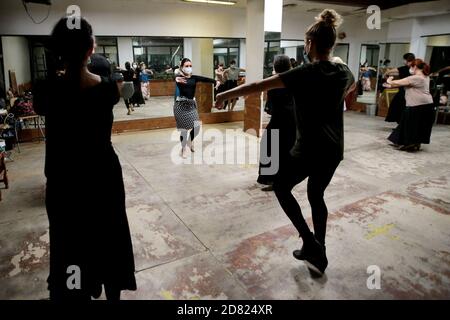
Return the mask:
M 3 59 L 5 70 L 0 79 L 3 91 L 9 89 L 9 71 L 17 78 L 18 85 L 31 87 L 35 80 L 46 79 L 52 70 L 48 48 L 49 36 L 2 36 Z M 183 57 L 192 60 L 193 73 L 208 78 L 217 78 L 216 70 L 227 70 L 234 62 L 233 74 L 224 79 L 222 89 L 230 87 L 227 80 L 234 85 L 245 81 L 245 39 L 222 38 L 183 38 L 183 37 L 134 37 L 134 36 L 96 36 L 95 53 L 104 56 L 111 64 L 113 73 L 124 73 L 126 63 L 135 64 L 136 82 L 134 88 L 139 91 L 133 110 L 125 105 L 123 99 L 113 109 L 116 127 L 124 130 L 173 127 L 173 103 L 175 97 L 174 72 Z M 237 71 L 236 71 L 237 70 Z M 227 82 L 227 83 L 225 83 Z M 206 122 L 238 121 L 243 119 L 244 100 L 237 99 L 224 110 L 213 108 L 214 85 L 201 83 L 197 85 L 196 100 L 200 118 Z M 17 90 L 16 94 L 20 94 Z M 231 112 L 232 111 L 232 112 Z M 233 115 L 231 115 L 233 113 Z M 204 117 L 202 117 L 202 114 Z M 215 114 L 219 114 L 215 116 Z M 153 122 L 134 120 L 155 120 Z M 134 121 L 134 122 L 133 122 Z M 133 125 L 124 124 L 133 123 Z M 137 127 L 139 124 L 141 127 Z

